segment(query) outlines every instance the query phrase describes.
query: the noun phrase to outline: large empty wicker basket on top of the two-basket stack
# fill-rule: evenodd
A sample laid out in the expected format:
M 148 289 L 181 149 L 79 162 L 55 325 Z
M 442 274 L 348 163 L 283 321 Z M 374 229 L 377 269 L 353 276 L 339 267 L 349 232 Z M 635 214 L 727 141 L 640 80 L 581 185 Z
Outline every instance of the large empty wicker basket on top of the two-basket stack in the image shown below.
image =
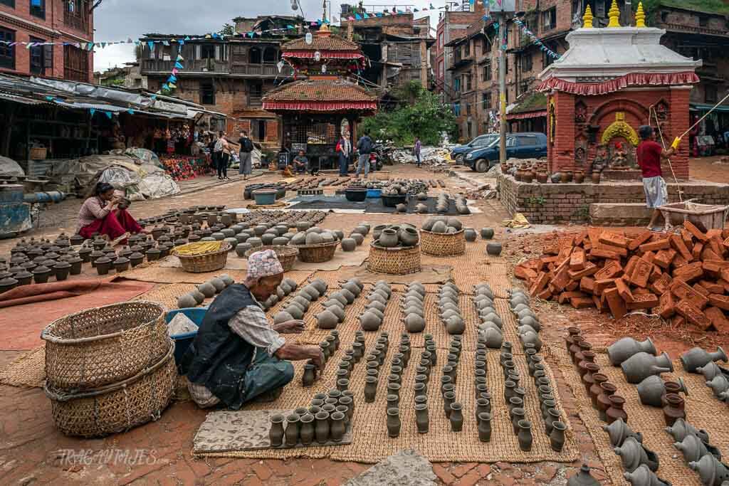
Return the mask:
M 165 308 L 134 300 L 66 315 L 41 333 L 53 388 L 98 388 L 152 366 L 169 348 Z

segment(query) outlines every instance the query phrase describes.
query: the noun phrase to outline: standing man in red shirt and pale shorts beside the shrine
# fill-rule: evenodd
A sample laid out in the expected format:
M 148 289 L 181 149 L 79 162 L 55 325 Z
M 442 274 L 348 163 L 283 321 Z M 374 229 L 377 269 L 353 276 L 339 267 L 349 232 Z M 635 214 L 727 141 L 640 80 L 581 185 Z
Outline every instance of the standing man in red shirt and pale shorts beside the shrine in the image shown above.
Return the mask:
M 655 141 L 655 132 L 650 125 L 643 125 L 638 129 L 641 143 L 636 149 L 636 157 L 638 165 L 643 173 L 643 189 L 645 191 L 645 199 L 649 208 L 653 208 L 650 217 L 649 230 L 660 230 L 655 224 L 661 216 L 658 207 L 668 203 L 668 191 L 666 190 L 666 181 L 663 180 L 663 173 L 660 171 L 660 160 L 668 159 L 676 153 L 681 138 L 676 138 L 671 148 L 663 150 L 663 147 Z

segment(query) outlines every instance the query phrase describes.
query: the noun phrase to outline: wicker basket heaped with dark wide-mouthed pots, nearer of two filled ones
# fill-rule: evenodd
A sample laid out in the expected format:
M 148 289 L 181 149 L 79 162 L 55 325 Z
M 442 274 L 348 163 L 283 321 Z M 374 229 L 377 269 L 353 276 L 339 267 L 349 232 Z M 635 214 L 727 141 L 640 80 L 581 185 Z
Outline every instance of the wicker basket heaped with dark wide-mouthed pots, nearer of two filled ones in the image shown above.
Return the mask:
M 412 224 L 378 224 L 373 228 L 373 238 L 367 270 L 389 275 L 421 270 L 420 235 Z

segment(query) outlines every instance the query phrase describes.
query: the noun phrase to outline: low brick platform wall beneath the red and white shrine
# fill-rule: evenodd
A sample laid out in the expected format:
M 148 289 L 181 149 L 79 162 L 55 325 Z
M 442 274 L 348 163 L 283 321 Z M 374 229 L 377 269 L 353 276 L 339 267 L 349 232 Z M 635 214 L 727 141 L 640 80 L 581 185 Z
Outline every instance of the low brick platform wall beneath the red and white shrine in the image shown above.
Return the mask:
M 502 173 L 496 179 L 504 208 L 511 215 L 523 213 L 535 224 L 585 223 L 593 203 L 645 203 L 640 182 L 528 184 Z M 695 198 L 706 204 L 729 204 L 727 184 L 687 182 L 681 187 L 684 200 Z M 668 200 L 679 200 L 677 188 L 677 184 L 668 182 Z

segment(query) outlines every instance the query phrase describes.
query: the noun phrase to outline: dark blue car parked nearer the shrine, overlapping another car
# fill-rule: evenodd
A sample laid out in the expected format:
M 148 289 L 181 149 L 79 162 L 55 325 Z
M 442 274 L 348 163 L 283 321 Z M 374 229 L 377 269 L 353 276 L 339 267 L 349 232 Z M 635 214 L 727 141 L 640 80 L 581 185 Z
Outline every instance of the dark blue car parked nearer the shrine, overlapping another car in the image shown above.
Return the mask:
M 547 157 L 547 136 L 539 132 L 510 133 L 506 136 L 507 159 Z M 466 154 L 464 161 L 472 171 L 486 172 L 499 163 L 499 138 Z

